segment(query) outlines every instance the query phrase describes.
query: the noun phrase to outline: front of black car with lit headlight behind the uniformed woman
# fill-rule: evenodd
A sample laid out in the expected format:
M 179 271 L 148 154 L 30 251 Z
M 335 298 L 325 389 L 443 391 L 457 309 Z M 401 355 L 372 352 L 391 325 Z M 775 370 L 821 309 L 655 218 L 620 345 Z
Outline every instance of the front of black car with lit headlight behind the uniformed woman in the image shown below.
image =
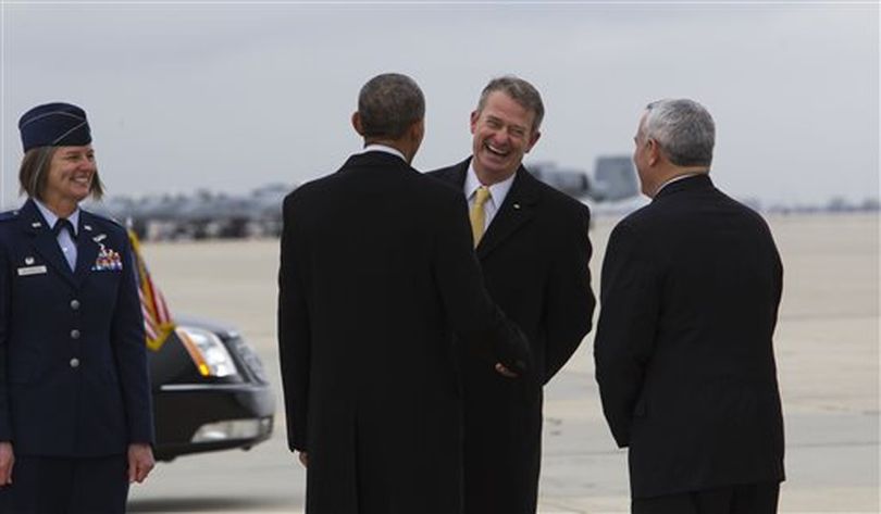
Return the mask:
M 253 349 L 214 323 L 177 318 L 158 351 L 147 351 L 158 461 L 240 448 L 272 435 L 275 398 Z

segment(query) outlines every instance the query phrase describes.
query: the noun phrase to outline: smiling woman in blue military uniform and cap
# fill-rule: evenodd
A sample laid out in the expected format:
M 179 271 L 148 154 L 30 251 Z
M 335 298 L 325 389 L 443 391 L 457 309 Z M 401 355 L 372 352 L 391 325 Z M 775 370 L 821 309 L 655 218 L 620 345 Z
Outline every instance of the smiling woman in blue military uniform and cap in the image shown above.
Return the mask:
M 125 229 L 100 198 L 86 113 L 18 122 L 24 205 L 0 214 L 0 513 L 125 512 L 154 461 L 144 319 Z

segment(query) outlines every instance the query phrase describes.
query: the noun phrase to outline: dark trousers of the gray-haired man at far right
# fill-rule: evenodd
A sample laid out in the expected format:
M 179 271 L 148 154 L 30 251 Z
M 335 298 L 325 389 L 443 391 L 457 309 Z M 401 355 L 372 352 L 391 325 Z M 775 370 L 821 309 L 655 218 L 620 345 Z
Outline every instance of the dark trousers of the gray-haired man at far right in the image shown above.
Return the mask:
M 779 482 L 747 484 L 655 498 L 634 498 L 632 514 L 775 514 Z

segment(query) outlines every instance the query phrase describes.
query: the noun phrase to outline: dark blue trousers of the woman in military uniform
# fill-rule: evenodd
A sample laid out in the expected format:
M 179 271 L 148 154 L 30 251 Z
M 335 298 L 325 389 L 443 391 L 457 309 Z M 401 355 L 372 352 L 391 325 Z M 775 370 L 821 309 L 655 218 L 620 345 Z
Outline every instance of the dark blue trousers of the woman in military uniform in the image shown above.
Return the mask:
M 15 455 L 12 485 L 0 487 L 0 514 L 123 514 L 127 469 L 125 455 Z

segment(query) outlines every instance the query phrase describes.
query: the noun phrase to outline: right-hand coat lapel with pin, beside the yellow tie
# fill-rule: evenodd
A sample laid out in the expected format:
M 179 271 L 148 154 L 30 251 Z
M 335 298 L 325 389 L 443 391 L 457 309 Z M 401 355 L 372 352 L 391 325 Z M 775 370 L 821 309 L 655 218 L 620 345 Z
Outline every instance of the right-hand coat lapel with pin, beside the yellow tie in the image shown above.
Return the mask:
M 520 166 L 511 189 L 477 245 L 477 256 L 481 260 L 486 259 L 489 252 L 532 220 L 537 203 L 538 188 L 535 178 Z

